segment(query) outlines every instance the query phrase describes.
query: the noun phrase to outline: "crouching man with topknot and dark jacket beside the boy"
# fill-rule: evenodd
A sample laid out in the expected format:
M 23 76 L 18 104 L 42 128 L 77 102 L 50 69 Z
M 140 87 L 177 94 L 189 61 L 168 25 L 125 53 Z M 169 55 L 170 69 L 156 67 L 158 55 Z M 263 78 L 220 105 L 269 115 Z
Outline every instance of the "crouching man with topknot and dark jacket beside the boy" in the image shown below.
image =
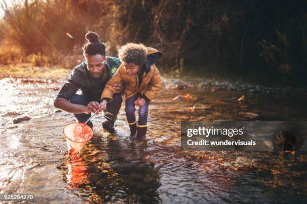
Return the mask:
M 91 112 L 97 111 L 105 84 L 120 65 L 118 58 L 106 56 L 105 45 L 98 39 L 98 34 L 89 31 L 85 37 L 88 40 L 83 46 L 85 61 L 73 69 L 54 101 L 55 107 L 73 113 L 76 121 L 82 123 L 91 116 Z M 113 130 L 121 106 L 121 83 L 118 81 L 114 85 L 116 94 L 103 113 L 105 119 L 102 126 L 107 130 Z M 87 124 L 93 128 L 91 121 Z

